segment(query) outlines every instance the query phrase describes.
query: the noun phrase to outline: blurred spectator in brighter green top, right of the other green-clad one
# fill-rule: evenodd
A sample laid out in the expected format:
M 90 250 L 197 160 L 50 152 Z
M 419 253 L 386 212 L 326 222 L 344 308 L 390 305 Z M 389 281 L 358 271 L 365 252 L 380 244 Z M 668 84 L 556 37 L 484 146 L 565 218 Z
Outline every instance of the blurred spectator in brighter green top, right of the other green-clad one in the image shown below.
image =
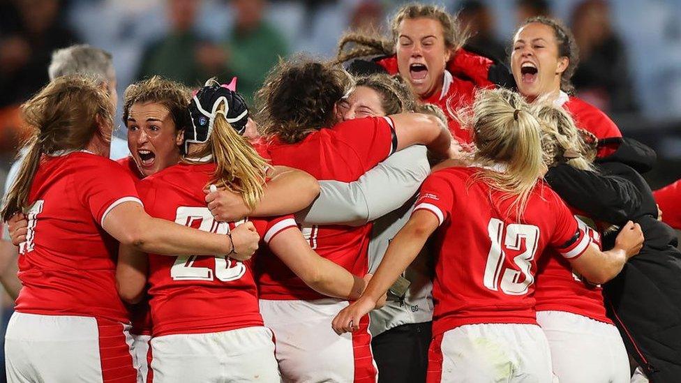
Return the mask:
M 232 0 L 230 3 L 235 13 L 234 28 L 223 45 L 222 62 L 227 73 L 239 77 L 237 89 L 250 103 L 270 68 L 279 57 L 288 54 L 288 43 L 274 26 L 264 20 L 266 1 Z M 215 54 L 207 54 L 202 62 L 210 66 L 210 60 L 215 57 Z

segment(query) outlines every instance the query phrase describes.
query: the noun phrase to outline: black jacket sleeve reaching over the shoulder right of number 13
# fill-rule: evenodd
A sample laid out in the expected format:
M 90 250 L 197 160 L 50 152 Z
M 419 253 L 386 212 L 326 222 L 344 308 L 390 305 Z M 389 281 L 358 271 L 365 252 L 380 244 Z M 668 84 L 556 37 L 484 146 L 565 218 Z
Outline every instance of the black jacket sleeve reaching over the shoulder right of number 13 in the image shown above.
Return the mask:
M 559 164 L 549 168 L 544 179 L 567 204 L 606 223 L 626 223 L 627 217 L 641 206 L 636 186 L 615 175 Z

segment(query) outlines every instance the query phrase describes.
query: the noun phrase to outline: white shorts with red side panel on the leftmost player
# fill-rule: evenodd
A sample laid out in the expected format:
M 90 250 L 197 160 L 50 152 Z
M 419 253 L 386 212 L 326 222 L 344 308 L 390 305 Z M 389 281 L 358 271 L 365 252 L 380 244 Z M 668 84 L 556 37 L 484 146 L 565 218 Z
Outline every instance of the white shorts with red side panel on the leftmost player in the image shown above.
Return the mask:
M 129 331 L 100 318 L 15 312 L 5 334 L 7 381 L 137 382 Z

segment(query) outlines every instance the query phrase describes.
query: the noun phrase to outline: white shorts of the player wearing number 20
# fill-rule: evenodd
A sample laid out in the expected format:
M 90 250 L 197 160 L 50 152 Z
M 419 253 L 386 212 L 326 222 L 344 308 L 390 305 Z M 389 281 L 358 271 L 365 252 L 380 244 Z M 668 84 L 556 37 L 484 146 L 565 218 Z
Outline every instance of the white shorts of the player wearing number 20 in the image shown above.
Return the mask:
M 272 332 L 262 326 L 151 338 L 154 383 L 279 382 Z

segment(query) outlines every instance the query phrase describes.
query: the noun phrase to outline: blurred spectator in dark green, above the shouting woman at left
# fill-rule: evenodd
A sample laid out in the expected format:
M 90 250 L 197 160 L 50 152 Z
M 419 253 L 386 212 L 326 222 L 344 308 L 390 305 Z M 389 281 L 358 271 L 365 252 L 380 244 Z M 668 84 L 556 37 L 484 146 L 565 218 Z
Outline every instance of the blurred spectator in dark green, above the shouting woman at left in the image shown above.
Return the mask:
M 200 61 L 202 49 L 208 44 L 195 28 L 202 1 L 167 0 L 170 31 L 144 49 L 137 79 L 162 75 L 195 87 L 220 72 Z

